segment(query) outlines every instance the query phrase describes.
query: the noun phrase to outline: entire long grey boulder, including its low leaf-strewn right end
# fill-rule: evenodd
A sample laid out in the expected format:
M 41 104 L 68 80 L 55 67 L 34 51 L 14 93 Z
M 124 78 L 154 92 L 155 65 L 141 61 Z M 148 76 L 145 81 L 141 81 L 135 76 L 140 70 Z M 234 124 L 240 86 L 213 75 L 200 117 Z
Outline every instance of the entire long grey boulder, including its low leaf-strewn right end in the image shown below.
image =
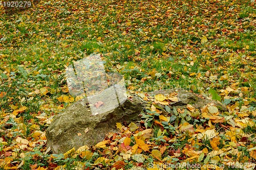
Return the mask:
M 89 101 L 105 101 L 103 106 L 95 108 L 90 106 L 87 98 L 84 98 L 68 107 L 63 113 L 56 115 L 53 122 L 46 131 L 49 147 L 54 153 L 65 153 L 75 147 L 78 149 L 82 145 L 95 145 L 102 141 L 109 132 L 117 132 L 116 123 L 134 122 L 141 120 L 139 114 L 145 107 L 144 102 L 136 93 L 131 94 L 129 99 L 122 98 L 120 89 L 108 88 L 103 91 L 103 95 L 89 96 Z M 226 107 L 218 101 L 207 99 L 206 96 L 194 94 L 184 89 L 167 89 L 148 92 L 148 95 L 170 94 L 177 92 L 178 102 L 170 103 L 168 107 L 173 112 L 173 107 L 186 109 L 187 104 L 200 109 L 209 103 L 213 103 L 220 111 L 226 111 Z M 119 94 L 117 94 L 119 92 Z M 112 94 L 117 95 L 112 95 Z M 119 106 L 116 104 L 118 96 Z M 94 99 L 90 99 L 94 98 Z M 103 99 L 106 98 L 106 99 Z M 147 105 L 151 105 L 148 102 Z M 163 105 L 158 104 L 164 109 Z M 113 107 L 115 106 L 115 107 Z M 100 114 L 92 114 L 98 109 Z M 104 110 L 106 110 L 104 112 Z M 96 111 L 94 111 L 96 112 Z M 172 114 L 171 112 L 171 114 Z

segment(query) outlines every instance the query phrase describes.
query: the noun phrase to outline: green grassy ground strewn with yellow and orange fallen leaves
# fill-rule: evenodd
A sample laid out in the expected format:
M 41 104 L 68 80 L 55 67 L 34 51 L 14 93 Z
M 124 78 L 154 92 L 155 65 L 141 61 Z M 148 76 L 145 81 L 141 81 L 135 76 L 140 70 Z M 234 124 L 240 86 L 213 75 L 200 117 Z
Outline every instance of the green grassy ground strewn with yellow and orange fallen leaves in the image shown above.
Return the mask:
M 224 150 L 230 142 L 236 144 L 236 147 L 232 143 L 230 146 L 237 153 L 220 156 L 222 161 L 230 158 L 241 162 L 243 158 L 246 162 L 255 162 L 252 148 L 256 143 L 253 134 L 256 113 L 251 111 L 256 107 L 254 1 L 75 0 L 32 4 L 26 10 L 0 7 L 2 168 L 44 169 L 63 164 L 66 168 L 151 168 L 149 165 L 153 162 L 177 163 L 193 157 L 184 151 L 191 149 L 187 144 L 192 141 L 196 142 L 191 144 L 195 152 L 204 148 L 208 151 L 204 150 L 201 161 L 201 153 L 194 153 L 198 157 L 189 161 L 208 164 L 217 159 L 206 155 L 216 149 L 212 148 L 212 139 L 203 140 L 200 145 L 185 133 L 177 134 L 172 126 L 164 133 L 153 128 L 153 136 L 145 142 L 154 143 L 151 145 L 155 148 L 137 153 L 143 154 L 139 155 L 140 159 L 147 158 L 143 163 L 137 158 L 126 159 L 121 151 L 113 150 L 112 145 L 89 149 L 85 155 L 75 157 L 74 154 L 66 159 L 61 155 L 44 155 L 44 132 L 51 118 L 72 104 L 65 68 L 91 53 L 103 54 L 107 70 L 124 75 L 130 90 L 147 92 L 182 87 L 210 95 L 209 88 L 215 89 L 227 104 L 229 114 L 237 115 L 241 121 L 248 117 L 254 123 L 254 126 L 235 126 L 236 130 L 224 128 L 230 130 L 235 139 L 218 135 L 219 149 Z M 70 102 L 58 100 L 64 95 L 69 96 Z M 148 122 L 159 119 L 153 115 L 144 118 Z M 204 121 L 206 124 L 208 119 Z M 220 125 L 214 126 L 218 130 Z M 240 132 L 244 136 L 241 137 Z M 172 138 L 172 135 L 177 136 L 175 142 L 161 138 Z M 136 143 L 135 136 L 130 138 L 131 143 Z M 110 149 L 112 155 L 104 155 Z M 159 152 L 161 159 L 156 156 Z M 228 165 L 225 168 L 232 169 Z

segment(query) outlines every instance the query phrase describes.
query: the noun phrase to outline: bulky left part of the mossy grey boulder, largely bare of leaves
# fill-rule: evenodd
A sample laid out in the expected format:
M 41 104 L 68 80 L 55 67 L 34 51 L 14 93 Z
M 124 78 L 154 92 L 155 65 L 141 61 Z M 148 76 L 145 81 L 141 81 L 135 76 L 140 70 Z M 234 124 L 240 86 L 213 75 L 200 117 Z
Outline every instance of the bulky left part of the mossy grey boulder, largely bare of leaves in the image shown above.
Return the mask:
M 110 110 L 116 105 L 116 96 L 108 95 L 113 94 L 112 90 L 113 88 L 106 89 L 106 95 L 100 95 L 98 101 L 107 101 L 98 107 L 100 114 L 92 115 L 88 99 L 84 98 L 56 115 L 46 131 L 47 148 L 50 147 L 53 153 L 65 153 L 73 147 L 78 149 L 83 145 L 95 145 L 109 132 L 117 132 L 116 123 L 139 121 L 139 114 L 145 105 L 141 98 L 135 95 L 125 101 L 119 98 L 120 105 Z M 108 99 L 102 99 L 104 96 Z M 102 113 L 104 109 L 106 112 Z

